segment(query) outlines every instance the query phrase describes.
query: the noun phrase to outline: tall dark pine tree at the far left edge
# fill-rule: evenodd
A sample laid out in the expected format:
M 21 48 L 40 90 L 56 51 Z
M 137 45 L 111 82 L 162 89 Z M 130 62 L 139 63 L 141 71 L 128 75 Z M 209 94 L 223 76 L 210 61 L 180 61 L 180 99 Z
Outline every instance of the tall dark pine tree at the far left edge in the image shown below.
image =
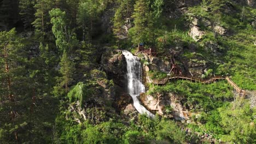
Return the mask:
M 26 54 L 22 47 L 20 38 L 16 37 L 15 29 L 11 29 L 9 32 L 0 32 L 0 64 L 2 65 L 0 79 L 3 81 L 0 86 L 2 95 L 0 103 L 3 104 L 3 107 L 1 106 L 3 109 L 0 111 L 1 115 L 6 115 L 1 118 L 0 127 L 11 134 L 8 139 L 16 141 L 18 141 L 17 131 L 20 124 L 18 107 L 21 105 L 18 101 L 22 95 L 21 88 L 24 88 L 22 84 L 26 81 L 24 76 L 26 74 L 24 56 Z M 22 90 L 26 91 L 26 88 Z

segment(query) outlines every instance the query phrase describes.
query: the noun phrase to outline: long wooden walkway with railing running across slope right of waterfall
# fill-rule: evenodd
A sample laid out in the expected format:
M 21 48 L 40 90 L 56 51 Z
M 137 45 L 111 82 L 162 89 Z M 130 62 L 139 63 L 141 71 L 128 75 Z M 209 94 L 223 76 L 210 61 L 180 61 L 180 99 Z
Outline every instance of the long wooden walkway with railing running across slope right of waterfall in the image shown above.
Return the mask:
M 172 76 L 172 77 L 166 77 L 165 79 L 162 79 L 162 80 L 153 80 L 153 83 L 155 85 L 165 85 L 168 80 L 177 80 L 177 79 L 188 80 L 188 81 L 191 81 L 191 82 L 201 82 L 201 83 L 205 83 L 205 84 L 215 82 L 216 80 L 226 80 L 226 81 L 229 82 L 229 85 L 232 86 L 239 95 L 244 97 L 245 94 L 246 94 L 246 91 L 241 89 L 240 87 L 238 87 L 236 85 L 236 83 L 234 81 L 232 81 L 228 76 L 226 76 L 226 77 L 214 76 L 214 77 L 211 77 L 208 80 L 202 80 L 202 79 L 198 79 L 198 78 L 195 78 L 195 77 Z

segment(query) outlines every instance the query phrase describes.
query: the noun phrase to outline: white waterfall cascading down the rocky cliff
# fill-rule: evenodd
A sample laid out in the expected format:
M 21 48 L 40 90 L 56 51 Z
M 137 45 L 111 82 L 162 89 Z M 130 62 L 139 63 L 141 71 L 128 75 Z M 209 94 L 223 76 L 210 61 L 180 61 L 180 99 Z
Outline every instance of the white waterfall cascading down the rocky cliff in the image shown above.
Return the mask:
M 139 58 L 132 55 L 131 52 L 124 50 L 127 63 L 127 80 L 128 80 L 128 92 L 132 97 L 133 106 L 139 113 L 146 113 L 149 117 L 154 115 L 149 112 L 144 106 L 139 103 L 138 96 L 145 92 L 145 87 L 141 82 L 142 79 L 142 67 Z

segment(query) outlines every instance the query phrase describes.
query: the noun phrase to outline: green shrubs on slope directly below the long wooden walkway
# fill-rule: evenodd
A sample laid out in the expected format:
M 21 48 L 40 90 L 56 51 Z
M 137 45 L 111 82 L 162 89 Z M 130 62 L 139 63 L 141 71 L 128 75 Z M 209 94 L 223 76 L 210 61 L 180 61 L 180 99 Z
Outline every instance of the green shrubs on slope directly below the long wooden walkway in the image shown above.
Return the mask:
M 148 91 L 149 94 L 175 93 L 179 97 L 185 98 L 188 105 L 193 105 L 194 109 L 210 111 L 222 106 L 223 100 L 231 100 L 232 92 L 228 83 L 216 82 L 210 85 L 193 83 L 189 81 L 177 81 L 167 83 L 165 86 L 153 86 Z

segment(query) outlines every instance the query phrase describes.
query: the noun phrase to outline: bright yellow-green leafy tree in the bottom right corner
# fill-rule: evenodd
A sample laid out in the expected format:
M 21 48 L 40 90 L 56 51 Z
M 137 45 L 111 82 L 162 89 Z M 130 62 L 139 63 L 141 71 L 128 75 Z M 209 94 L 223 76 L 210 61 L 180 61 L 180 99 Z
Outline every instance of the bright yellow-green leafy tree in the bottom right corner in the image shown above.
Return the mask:
M 224 141 L 231 141 L 237 143 L 254 143 L 256 137 L 255 125 L 251 125 L 253 110 L 250 109 L 249 104 L 243 102 L 242 98 L 237 98 L 234 106 L 230 105 L 228 109 L 219 109 L 226 135 L 223 135 Z M 255 111 L 254 111 L 255 112 Z

